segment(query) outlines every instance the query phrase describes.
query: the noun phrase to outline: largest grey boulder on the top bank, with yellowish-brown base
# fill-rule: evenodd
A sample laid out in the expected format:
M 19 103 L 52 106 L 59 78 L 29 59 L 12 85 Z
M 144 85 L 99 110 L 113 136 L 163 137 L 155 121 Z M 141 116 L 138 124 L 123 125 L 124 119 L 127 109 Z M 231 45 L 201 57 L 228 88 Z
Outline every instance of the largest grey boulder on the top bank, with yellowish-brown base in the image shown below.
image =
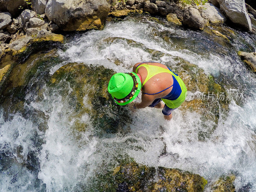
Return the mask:
M 49 0 L 45 15 L 64 31 L 103 29 L 108 16 L 106 0 Z

